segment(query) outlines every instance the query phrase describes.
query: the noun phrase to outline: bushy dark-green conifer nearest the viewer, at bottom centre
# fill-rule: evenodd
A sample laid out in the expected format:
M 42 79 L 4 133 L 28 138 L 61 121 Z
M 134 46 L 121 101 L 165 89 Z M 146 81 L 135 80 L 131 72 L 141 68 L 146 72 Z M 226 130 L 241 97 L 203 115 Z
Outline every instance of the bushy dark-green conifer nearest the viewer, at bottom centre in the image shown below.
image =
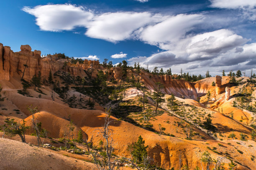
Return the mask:
M 128 149 L 131 150 L 131 155 L 133 155 L 134 160 L 138 164 L 142 163 L 143 159 L 147 157 L 147 148 L 148 146 L 145 146 L 145 140 L 143 140 L 141 135 L 136 143 L 128 145 Z

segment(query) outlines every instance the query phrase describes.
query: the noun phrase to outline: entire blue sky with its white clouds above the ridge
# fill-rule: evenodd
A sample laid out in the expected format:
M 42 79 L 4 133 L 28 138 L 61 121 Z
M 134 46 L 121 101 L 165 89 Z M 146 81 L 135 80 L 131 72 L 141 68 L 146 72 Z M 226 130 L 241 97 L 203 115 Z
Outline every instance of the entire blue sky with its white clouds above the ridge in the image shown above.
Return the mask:
M 256 71 L 253 0 L 10 0 L 0 42 L 19 51 L 127 60 L 150 69 Z

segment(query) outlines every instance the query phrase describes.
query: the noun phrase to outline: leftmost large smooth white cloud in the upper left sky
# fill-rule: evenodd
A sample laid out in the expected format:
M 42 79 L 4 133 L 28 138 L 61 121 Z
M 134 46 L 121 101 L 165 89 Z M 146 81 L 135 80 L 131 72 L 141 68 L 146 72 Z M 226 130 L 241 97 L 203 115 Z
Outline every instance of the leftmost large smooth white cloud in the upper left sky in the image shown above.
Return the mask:
M 34 15 L 36 25 L 46 31 L 72 30 L 77 26 L 87 25 L 93 17 L 90 11 L 71 4 L 23 7 L 23 11 Z

